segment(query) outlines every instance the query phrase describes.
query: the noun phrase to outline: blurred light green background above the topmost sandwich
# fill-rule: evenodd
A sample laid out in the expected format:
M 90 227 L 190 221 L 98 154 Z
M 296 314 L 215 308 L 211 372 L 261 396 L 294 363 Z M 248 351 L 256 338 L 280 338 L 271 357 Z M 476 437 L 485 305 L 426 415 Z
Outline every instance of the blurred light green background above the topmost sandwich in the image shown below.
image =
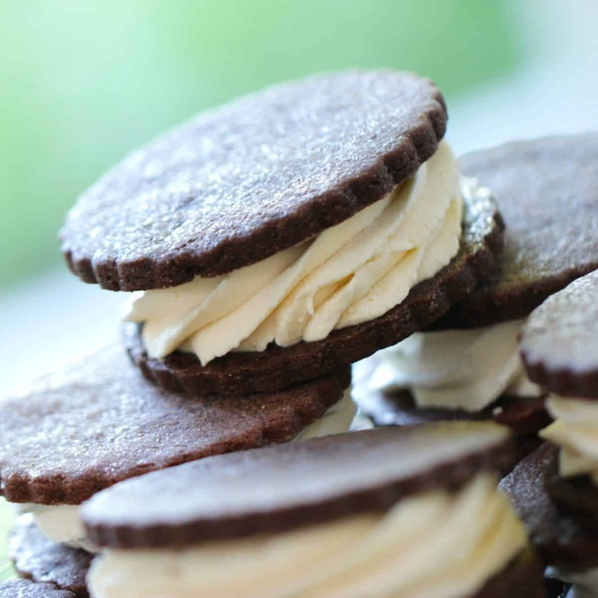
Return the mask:
M 194 112 L 285 78 L 393 66 L 450 100 L 522 59 L 501 0 L 0 0 L 0 285 L 59 263 L 80 191 Z

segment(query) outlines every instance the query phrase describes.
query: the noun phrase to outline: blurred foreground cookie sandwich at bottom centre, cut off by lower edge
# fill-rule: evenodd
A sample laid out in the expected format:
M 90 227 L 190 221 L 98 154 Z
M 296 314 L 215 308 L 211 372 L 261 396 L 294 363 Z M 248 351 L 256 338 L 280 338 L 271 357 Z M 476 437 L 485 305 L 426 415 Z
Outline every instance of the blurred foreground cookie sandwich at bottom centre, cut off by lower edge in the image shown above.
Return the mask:
M 104 548 L 90 593 L 544 596 L 524 527 L 496 489 L 512 448 L 503 426 L 443 422 L 209 457 L 117 484 L 82 508 Z

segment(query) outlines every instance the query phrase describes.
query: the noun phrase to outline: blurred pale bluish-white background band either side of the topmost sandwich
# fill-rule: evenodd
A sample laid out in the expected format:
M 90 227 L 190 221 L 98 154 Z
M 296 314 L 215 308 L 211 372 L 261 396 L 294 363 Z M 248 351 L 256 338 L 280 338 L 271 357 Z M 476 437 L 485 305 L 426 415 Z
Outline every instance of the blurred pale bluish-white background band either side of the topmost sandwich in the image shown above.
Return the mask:
M 511 139 L 598 130 L 598 2 L 520 0 L 531 59 L 516 74 L 449 105 L 457 154 Z M 66 267 L 0 294 L 0 393 L 118 337 L 123 297 Z

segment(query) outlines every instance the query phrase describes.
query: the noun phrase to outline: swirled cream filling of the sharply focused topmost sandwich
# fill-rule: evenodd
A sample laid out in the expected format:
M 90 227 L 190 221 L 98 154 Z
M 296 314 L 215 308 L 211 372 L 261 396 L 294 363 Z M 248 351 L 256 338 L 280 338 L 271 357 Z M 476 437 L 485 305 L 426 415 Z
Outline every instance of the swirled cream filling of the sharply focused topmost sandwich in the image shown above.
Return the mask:
M 463 181 L 463 193 L 476 183 Z M 326 338 L 370 321 L 434 276 L 459 249 L 463 202 L 449 145 L 408 181 L 316 239 L 225 276 L 136 292 L 124 319 L 143 322 L 145 348 L 203 365 L 226 353 Z

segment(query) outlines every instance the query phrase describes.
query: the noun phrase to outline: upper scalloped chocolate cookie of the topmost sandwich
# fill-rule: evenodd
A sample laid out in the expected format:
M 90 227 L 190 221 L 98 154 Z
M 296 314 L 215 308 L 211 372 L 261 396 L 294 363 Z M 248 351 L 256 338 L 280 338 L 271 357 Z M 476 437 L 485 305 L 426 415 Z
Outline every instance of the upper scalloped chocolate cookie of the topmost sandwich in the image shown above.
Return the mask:
M 204 112 L 84 193 L 60 234 L 71 270 L 134 291 L 217 276 L 310 239 L 416 172 L 446 129 L 431 81 L 348 71 Z

